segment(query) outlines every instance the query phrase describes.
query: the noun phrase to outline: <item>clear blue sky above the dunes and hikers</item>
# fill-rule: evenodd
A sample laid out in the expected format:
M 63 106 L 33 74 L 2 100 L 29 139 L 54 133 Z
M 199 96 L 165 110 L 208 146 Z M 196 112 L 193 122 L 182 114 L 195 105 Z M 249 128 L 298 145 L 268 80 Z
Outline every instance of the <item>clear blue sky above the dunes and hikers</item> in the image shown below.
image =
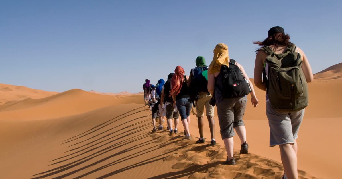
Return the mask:
M 0 83 L 63 92 L 140 92 L 188 75 L 218 43 L 253 78 L 253 41 L 281 26 L 314 73 L 340 63 L 342 1 L 0 0 Z

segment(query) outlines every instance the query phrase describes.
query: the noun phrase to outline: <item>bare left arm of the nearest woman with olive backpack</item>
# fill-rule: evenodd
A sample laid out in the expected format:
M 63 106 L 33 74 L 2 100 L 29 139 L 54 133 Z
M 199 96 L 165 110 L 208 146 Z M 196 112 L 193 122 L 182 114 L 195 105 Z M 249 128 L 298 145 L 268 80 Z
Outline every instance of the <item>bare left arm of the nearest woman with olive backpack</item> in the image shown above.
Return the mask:
M 267 54 L 260 50 L 255 57 L 255 64 L 254 64 L 254 84 L 259 89 L 266 91 L 266 85 L 262 83 L 262 72 L 264 70 L 263 61 L 266 59 Z

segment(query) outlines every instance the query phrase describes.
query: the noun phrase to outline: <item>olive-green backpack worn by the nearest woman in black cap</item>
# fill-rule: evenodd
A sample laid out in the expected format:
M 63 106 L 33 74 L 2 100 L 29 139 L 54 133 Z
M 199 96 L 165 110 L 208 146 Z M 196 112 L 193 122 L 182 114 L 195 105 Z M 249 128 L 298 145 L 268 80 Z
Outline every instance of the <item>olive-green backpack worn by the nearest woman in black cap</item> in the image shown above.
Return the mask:
M 298 111 L 308 105 L 308 90 L 296 45 L 290 44 L 284 54 L 275 54 L 270 47 L 262 48 L 268 56 L 267 94 L 274 109 Z M 265 77 L 264 77 L 265 80 Z

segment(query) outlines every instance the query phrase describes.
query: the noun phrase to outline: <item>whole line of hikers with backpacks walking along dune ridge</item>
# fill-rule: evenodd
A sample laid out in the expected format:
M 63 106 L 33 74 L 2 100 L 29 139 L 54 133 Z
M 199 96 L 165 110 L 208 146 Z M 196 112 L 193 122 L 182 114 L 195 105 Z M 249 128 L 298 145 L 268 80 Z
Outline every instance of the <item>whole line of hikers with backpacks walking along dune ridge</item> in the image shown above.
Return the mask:
M 279 146 L 284 165 L 282 178 L 298 178 L 297 141 L 304 108 L 308 105 L 307 82 L 313 81 L 310 64 L 304 52 L 290 42 L 290 36 L 282 27 L 272 27 L 264 41 L 253 42 L 262 46 L 257 52 L 254 66 L 254 84 L 266 91 L 266 116 L 270 128 L 270 147 Z M 233 158 L 234 129 L 241 141 L 241 154 L 248 153 L 244 116 L 247 95 L 251 103 L 258 105 L 254 87 L 244 68 L 229 58 L 226 44 L 217 44 L 209 67 L 205 58 L 198 56 L 196 67 L 185 75 L 181 66 L 168 75 L 167 81 L 159 79 L 151 85 L 148 79 L 143 85 L 145 105 L 152 111 L 153 132 L 163 130 L 167 119 L 169 135 L 178 133 L 179 116 L 185 139 L 190 139 L 190 111 L 196 109 L 200 138 L 196 143 L 205 143 L 203 136 L 204 108 L 211 134 L 210 145 L 215 146 L 214 108 L 217 106 L 220 133 L 227 152 L 226 164 L 235 165 Z M 192 108 L 192 106 L 195 106 Z M 193 113 L 195 114 L 195 113 Z M 174 119 L 174 128 L 172 119 Z

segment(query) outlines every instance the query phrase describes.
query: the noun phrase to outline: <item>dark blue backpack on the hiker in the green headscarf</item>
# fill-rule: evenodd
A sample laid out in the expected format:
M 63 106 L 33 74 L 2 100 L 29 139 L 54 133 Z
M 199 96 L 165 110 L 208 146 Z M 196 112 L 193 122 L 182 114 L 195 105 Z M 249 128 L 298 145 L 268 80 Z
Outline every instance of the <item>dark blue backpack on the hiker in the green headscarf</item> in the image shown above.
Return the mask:
M 191 79 L 191 84 L 188 89 L 188 94 L 190 98 L 194 101 L 199 99 L 199 92 L 207 92 L 208 93 L 208 79 L 203 76 L 203 72 L 208 72 L 207 66 L 200 66 L 194 69 L 191 69 L 190 73 L 192 73 L 193 77 Z

